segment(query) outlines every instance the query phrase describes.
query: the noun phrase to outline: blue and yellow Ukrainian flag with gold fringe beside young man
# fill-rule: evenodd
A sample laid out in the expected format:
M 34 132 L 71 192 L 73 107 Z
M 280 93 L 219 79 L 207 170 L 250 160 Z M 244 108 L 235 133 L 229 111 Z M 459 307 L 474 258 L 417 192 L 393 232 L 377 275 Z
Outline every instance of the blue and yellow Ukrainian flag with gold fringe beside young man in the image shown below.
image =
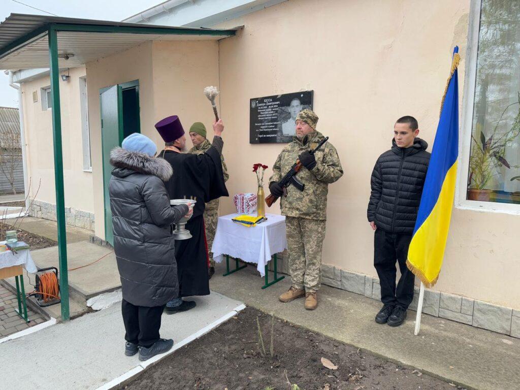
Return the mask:
M 459 62 L 459 47 L 456 46 L 406 262 L 426 287 L 432 287 L 439 277 L 455 195 L 459 154 Z

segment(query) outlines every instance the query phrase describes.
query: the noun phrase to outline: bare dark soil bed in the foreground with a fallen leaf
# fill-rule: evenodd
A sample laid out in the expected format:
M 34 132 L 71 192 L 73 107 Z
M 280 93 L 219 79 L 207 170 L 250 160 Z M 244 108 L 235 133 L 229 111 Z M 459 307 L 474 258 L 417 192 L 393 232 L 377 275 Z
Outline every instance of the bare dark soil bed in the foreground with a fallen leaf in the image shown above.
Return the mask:
M 258 342 L 257 318 L 266 354 Z M 453 390 L 427 374 L 274 319 L 253 308 L 148 369 L 128 390 Z M 336 369 L 324 367 L 329 359 Z M 327 362 L 325 362 L 328 365 Z

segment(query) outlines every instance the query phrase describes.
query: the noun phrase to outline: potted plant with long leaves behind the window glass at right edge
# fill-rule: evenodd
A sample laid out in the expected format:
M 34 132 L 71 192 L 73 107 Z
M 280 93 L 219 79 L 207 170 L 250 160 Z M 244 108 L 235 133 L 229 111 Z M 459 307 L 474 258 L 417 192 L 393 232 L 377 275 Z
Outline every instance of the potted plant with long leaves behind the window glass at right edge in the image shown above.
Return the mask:
M 470 156 L 470 174 L 467 183 L 467 199 L 469 200 L 489 202 L 493 192 L 488 188 L 491 180 L 500 174 L 499 169 L 502 166 L 511 168 L 504 157 L 505 147 L 509 146 L 520 134 L 520 106 L 511 129 L 502 135 L 497 134 L 497 129 L 505 112 L 515 105 L 520 105 L 520 93 L 518 93 L 518 101 L 511 103 L 504 109 L 489 138 L 482 131 L 479 131 L 480 134 L 471 136 L 473 142 Z

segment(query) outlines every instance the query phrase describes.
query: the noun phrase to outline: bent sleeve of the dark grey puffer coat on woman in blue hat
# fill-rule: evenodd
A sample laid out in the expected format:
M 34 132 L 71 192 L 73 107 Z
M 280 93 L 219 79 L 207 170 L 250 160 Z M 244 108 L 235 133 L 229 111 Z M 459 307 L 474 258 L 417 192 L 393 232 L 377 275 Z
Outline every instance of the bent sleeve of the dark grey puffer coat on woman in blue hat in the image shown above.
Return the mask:
M 156 176 L 150 176 L 143 182 L 141 193 L 142 198 L 145 200 L 148 213 L 153 223 L 157 226 L 175 224 L 188 213 L 188 206 L 186 204 L 173 207 L 170 205 L 170 198 L 168 198 L 166 187 L 163 181 Z

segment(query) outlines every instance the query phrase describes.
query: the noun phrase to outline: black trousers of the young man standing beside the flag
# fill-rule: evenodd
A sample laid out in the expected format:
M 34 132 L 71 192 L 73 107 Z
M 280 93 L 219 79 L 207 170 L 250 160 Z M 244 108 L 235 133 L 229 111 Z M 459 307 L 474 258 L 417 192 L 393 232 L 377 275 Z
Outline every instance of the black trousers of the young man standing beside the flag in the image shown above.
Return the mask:
M 388 233 L 376 229 L 374 233 L 374 267 L 378 271 L 381 285 L 381 302 L 386 305 L 399 305 L 407 309 L 413 300 L 413 283 L 415 276 L 406 266 L 408 246 L 411 235 Z M 399 263 L 401 278 L 395 285 Z

